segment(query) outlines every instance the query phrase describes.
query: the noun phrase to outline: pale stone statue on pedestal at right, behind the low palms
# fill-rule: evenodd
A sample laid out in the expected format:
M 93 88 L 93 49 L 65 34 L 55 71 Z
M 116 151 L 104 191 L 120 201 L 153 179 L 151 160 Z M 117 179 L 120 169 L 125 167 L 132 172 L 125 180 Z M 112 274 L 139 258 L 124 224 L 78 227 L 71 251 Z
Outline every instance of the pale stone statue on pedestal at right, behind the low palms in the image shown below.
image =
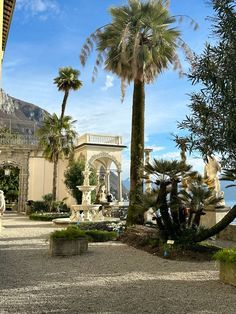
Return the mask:
M 220 197 L 220 180 L 217 173 L 221 171 L 221 166 L 215 157 L 207 156 L 207 163 L 204 168 L 204 179 L 209 188 L 216 192 L 216 197 Z

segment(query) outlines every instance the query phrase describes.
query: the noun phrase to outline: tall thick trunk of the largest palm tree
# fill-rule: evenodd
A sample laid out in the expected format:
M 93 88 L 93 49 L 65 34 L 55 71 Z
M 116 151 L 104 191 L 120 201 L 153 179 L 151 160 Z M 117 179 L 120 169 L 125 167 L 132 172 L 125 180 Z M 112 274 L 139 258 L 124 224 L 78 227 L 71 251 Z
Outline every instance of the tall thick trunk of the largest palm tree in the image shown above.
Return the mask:
M 140 204 L 140 197 L 143 193 L 144 112 L 144 82 L 136 79 L 132 107 L 130 205 Z

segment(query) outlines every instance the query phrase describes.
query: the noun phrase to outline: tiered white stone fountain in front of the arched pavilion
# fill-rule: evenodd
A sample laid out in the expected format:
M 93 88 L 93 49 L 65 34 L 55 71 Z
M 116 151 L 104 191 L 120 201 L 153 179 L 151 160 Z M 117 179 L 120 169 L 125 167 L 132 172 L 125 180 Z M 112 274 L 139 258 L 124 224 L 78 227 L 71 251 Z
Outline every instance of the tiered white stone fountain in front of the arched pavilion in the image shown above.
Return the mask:
M 96 189 L 96 186 L 89 184 L 90 173 L 88 163 L 86 163 L 85 170 L 83 171 L 83 185 L 77 186 L 82 191 L 82 204 L 71 206 L 71 222 L 104 220 L 102 211 L 99 211 L 101 204 L 91 204 L 91 192 Z

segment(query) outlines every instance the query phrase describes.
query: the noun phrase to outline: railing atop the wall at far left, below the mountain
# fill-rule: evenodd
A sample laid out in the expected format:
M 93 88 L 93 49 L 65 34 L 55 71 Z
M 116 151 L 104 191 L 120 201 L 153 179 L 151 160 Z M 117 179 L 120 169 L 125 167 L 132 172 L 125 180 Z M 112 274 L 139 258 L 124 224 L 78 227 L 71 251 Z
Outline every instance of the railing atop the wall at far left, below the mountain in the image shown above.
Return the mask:
M 37 146 L 38 139 L 33 135 L 0 134 L 0 145 Z

